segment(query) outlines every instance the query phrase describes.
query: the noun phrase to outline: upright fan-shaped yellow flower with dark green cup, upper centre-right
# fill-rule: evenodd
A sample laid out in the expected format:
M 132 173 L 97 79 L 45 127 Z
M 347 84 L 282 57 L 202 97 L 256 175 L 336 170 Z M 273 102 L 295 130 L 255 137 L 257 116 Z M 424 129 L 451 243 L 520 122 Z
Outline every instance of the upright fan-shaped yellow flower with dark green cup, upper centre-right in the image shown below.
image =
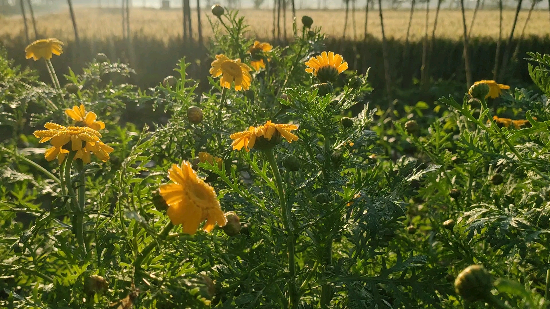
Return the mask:
M 306 61 L 306 72 L 313 73 L 321 82 L 333 82 L 338 74 L 348 69 L 348 63 L 339 54 L 322 52 Z

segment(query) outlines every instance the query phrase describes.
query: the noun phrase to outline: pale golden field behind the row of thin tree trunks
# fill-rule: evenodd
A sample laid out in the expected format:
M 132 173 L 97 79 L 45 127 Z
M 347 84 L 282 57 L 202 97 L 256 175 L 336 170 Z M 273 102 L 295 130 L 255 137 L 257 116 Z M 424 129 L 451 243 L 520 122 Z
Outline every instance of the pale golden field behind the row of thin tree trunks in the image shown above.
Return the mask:
M 68 10 L 67 10 L 68 11 Z M 122 16 L 120 9 L 116 8 L 79 8 L 76 9 L 76 20 L 81 37 L 96 38 L 101 40 L 106 37 L 122 35 Z M 245 16 L 246 23 L 250 24 L 250 35 L 255 37 L 272 37 L 273 17 L 270 10 L 243 9 L 240 14 Z M 466 12 L 466 21 L 470 24 L 473 11 Z M 323 32 L 329 36 L 342 37 L 344 29 L 343 10 L 298 10 L 298 19 L 302 15 L 309 15 L 313 18 L 314 26 L 321 26 Z M 508 36 L 511 22 L 513 21 L 513 10 L 506 10 L 503 14 L 503 36 Z M 435 10 L 430 11 L 430 33 L 433 27 Z M 527 17 L 527 10 L 520 13 L 516 36 L 519 36 Z M 212 18 L 209 10 L 204 12 L 202 31 L 204 36 L 212 35 L 208 18 Z M 384 10 L 384 25 L 388 37 L 404 39 L 408 25 L 408 10 Z M 47 14 L 37 17 L 37 28 L 41 37 L 57 37 L 61 40 L 73 40 L 73 28 L 68 12 Z M 30 23 L 30 19 L 29 19 Z M 194 34 L 196 37 L 197 19 L 193 15 Z M 300 23 L 300 22 L 299 22 Z M 365 12 L 359 10 L 355 14 L 355 31 L 353 19 L 349 18 L 346 37 L 361 39 L 364 33 Z M 282 27 L 281 23 L 281 27 Z M 300 23 L 301 25 L 301 23 Z M 415 11 L 411 27 L 410 39 L 421 40 L 425 27 L 425 10 L 419 8 Z M 23 33 L 23 18 L 21 16 L 10 16 L 0 18 L 0 38 L 4 44 L 9 44 L 9 38 L 19 36 Z M 162 38 L 167 42 L 172 37 L 182 36 L 182 12 L 180 9 L 158 10 L 147 8 L 130 9 L 130 29 L 132 32 L 146 36 Z M 378 10 L 371 10 L 368 15 L 368 33 L 380 37 L 380 23 Z M 29 24 L 31 38 L 34 37 L 32 26 Z M 461 14 L 459 10 L 442 10 L 439 14 L 436 36 L 439 38 L 459 39 L 462 35 Z M 282 30 L 283 32 L 283 30 Z M 292 12 L 287 12 L 287 33 L 292 32 Z M 525 35 L 546 36 L 550 32 L 550 22 L 547 10 L 537 10 L 532 13 L 531 20 L 527 25 Z M 355 34 L 354 34 L 355 33 Z M 474 37 L 498 37 L 498 10 L 478 11 L 476 23 L 472 29 Z

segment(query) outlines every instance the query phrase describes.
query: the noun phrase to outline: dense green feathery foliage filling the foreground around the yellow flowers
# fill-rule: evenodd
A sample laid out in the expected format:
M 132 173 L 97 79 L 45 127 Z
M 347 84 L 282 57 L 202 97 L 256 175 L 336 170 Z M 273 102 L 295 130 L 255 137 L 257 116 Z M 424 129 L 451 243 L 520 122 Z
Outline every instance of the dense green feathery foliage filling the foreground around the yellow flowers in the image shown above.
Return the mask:
M 383 110 L 367 104 L 368 76 L 305 71 L 324 50 L 319 30 L 258 55 L 237 13 L 212 26 L 211 59 L 265 60 L 250 89 L 211 77 L 200 93 L 184 58 L 142 91 L 102 54 L 62 88 L 2 54 L 3 307 L 546 308 L 548 55 L 530 55 L 540 92 Z M 32 132 L 71 125 L 65 110 L 80 104 L 105 122 L 111 158 L 48 162 Z M 167 123 L 123 123 L 140 106 Z M 298 125 L 298 140 L 232 148 L 230 134 L 266 121 Z M 227 226 L 171 223 L 158 189 L 182 161 L 216 190 Z M 487 271 L 468 268 L 455 291 L 472 264 Z

